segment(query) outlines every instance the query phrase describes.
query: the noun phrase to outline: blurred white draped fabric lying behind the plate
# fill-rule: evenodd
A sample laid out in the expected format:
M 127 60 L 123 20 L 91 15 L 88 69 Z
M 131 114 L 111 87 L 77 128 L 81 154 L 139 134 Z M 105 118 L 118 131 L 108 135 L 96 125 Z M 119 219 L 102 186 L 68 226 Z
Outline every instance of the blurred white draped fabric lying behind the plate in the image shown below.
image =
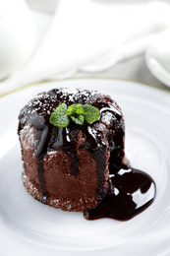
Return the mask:
M 77 70 L 97 72 L 141 54 L 154 33 L 170 27 L 170 4 L 62 0 L 28 63 L 0 83 L 0 94 Z

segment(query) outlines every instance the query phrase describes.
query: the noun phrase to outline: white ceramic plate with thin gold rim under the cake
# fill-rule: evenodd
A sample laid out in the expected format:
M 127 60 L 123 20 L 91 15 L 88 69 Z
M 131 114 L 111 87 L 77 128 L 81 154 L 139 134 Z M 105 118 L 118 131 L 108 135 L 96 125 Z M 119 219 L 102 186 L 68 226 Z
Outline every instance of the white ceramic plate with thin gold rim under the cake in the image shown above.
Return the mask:
M 127 156 L 157 187 L 153 204 L 131 221 L 86 221 L 81 213 L 42 205 L 25 190 L 18 114 L 28 99 L 57 87 L 100 90 L 122 106 Z M 2 97 L 0 120 L 0 255 L 170 255 L 170 94 L 112 79 L 51 82 Z

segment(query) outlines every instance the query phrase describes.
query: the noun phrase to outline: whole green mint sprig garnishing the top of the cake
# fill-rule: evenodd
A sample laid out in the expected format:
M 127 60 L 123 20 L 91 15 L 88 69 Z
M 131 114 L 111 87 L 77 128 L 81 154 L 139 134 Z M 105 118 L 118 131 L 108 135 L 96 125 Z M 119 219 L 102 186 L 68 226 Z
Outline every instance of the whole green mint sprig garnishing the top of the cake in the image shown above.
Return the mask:
M 57 106 L 50 115 L 49 121 L 54 126 L 67 127 L 71 120 L 79 125 L 93 123 L 100 117 L 100 111 L 89 104 L 72 104 L 67 107 L 66 103 Z

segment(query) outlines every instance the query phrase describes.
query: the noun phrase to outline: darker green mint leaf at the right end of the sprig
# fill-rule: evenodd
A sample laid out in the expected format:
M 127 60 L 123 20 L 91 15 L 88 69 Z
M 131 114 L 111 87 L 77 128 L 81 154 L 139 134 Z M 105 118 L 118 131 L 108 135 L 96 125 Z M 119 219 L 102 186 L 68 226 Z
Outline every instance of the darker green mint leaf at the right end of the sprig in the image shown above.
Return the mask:
M 83 105 L 85 121 L 87 123 L 93 123 L 100 117 L 100 111 L 89 104 Z

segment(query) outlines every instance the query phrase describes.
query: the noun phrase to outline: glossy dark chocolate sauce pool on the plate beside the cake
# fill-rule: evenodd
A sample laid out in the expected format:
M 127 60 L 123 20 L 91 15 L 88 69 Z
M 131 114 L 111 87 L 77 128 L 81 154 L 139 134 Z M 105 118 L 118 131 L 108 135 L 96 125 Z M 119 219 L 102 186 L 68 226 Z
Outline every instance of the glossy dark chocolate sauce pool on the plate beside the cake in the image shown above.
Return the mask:
M 85 219 L 128 221 L 153 202 L 155 191 L 155 183 L 148 174 L 134 168 L 120 168 L 110 176 L 109 193 L 96 208 L 85 211 Z

